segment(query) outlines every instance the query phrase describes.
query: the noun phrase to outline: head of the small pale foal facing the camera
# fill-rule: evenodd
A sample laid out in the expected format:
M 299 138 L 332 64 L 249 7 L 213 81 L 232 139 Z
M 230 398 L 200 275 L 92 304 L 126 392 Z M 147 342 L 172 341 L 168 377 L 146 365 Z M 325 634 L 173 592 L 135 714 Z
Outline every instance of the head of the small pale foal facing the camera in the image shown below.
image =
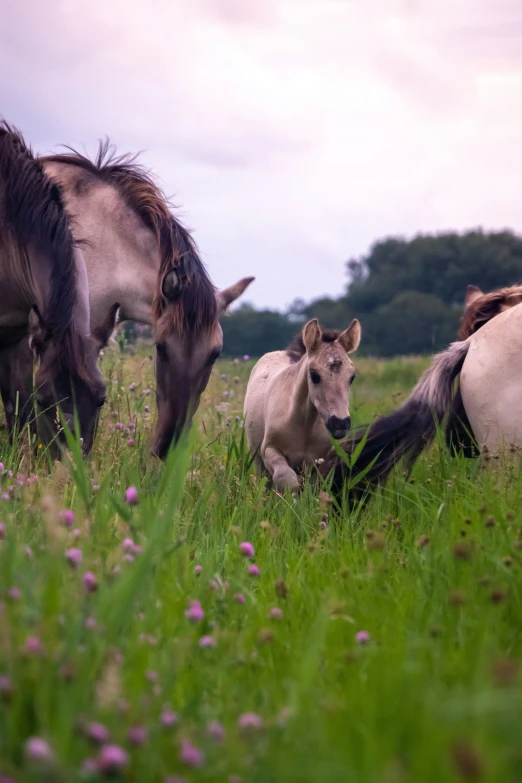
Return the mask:
M 325 342 L 328 337 L 335 339 Z M 348 329 L 336 336 L 336 333 L 323 332 L 314 318 L 303 328 L 302 338 L 306 348 L 310 401 L 329 433 L 340 440 L 351 424 L 348 405 L 355 369 L 348 354 L 359 346 L 361 325 L 354 319 Z

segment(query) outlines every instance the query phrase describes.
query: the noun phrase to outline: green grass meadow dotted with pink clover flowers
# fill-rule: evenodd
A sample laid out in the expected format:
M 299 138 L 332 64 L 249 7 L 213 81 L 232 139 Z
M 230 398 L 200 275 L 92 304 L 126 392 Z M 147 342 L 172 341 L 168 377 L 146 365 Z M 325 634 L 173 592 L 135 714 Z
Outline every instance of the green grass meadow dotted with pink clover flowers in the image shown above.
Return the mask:
M 428 364 L 355 362 L 359 423 Z M 248 469 L 251 363 L 218 365 L 166 466 L 150 358 L 102 366 L 88 463 L 0 436 L 2 783 L 522 780 L 516 467 L 436 445 L 338 515 Z

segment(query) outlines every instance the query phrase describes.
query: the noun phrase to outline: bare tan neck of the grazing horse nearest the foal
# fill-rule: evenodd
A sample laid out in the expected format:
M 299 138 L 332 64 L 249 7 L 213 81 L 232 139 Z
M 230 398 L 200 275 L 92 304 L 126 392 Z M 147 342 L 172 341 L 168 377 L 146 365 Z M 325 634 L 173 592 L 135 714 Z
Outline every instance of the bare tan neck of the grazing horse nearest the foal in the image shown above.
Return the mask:
M 120 320 L 152 323 L 152 303 L 159 272 L 156 236 L 111 185 L 78 166 L 45 163 L 64 194 L 75 239 L 85 240 L 91 328 L 100 326 L 110 308 L 120 304 Z M 81 182 L 90 177 L 89 185 Z

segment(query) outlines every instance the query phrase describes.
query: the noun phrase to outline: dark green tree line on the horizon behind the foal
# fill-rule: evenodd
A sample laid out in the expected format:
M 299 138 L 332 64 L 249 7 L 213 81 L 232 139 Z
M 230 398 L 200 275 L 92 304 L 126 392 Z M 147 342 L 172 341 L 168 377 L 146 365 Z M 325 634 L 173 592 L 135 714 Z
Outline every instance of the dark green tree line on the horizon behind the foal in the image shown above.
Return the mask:
M 468 231 L 386 238 L 346 263 L 338 298 L 295 300 L 286 312 L 244 304 L 221 320 L 228 356 L 261 356 L 284 348 L 302 324 L 318 318 L 345 328 L 360 319 L 360 353 L 432 353 L 456 338 L 466 287 L 492 291 L 522 281 L 522 237 L 512 231 Z

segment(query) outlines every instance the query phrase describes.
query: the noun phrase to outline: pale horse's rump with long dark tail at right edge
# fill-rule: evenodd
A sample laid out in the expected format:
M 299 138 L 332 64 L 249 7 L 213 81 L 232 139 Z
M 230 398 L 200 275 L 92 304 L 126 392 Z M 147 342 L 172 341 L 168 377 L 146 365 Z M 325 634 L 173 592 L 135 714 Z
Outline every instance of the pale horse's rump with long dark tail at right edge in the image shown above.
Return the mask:
M 437 426 L 454 401 L 459 377 L 462 404 L 480 452 L 498 456 L 510 447 L 522 447 L 522 304 L 499 313 L 466 340 L 439 353 L 404 404 L 361 428 L 344 448 L 353 452 L 366 438 L 355 471 L 365 470 L 363 481 L 384 481 L 403 457 L 410 463 L 435 437 Z M 330 453 L 322 465 L 332 468 L 334 487 L 340 489 L 347 468 Z

